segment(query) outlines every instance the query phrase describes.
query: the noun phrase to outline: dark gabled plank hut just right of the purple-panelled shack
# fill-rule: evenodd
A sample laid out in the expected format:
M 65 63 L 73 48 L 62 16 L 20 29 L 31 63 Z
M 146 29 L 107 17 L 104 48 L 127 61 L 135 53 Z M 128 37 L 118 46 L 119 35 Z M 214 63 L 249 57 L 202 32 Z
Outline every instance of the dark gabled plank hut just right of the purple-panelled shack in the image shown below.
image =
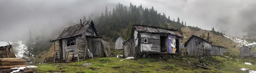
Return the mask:
M 192 35 L 185 43 L 188 56 L 211 56 L 212 42 L 199 36 Z

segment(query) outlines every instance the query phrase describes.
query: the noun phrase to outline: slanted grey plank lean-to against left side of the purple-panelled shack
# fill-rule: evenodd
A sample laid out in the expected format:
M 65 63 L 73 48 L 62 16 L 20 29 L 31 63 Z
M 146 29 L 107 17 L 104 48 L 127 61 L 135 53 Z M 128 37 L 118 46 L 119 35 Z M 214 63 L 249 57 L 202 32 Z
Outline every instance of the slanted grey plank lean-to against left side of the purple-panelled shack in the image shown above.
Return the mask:
M 128 39 L 125 43 L 123 43 L 123 57 L 134 57 L 135 48 L 134 48 L 134 36 Z

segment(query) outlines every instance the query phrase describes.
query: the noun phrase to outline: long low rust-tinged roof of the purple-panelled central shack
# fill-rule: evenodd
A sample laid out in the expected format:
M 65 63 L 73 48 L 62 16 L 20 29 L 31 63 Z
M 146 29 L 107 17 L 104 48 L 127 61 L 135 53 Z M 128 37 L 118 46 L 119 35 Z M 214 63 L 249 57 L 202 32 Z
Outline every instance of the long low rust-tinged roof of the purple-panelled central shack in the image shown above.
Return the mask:
M 150 33 L 160 33 L 160 34 L 172 34 L 176 36 L 183 37 L 177 30 L 174 29 L 167 29 L 167 28 L 160 28 L 155 26 L 147 26 L 147 25 L 133 25 L 133 27 L 138 32 L 150 32 Z

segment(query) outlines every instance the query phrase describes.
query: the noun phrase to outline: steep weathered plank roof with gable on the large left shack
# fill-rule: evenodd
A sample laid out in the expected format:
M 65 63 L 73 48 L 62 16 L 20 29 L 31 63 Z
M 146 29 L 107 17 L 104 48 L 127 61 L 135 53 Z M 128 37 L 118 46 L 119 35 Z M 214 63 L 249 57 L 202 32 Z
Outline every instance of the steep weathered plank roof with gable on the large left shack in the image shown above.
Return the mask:
M 90 28 L 90 27 L 95 32 L 96 36 L 99 36 L 94 27 L 93 20 L 89 20 L 89 21 L 83 22 L 82 25 L 76 24 L 76 25 L 72 25 L 70 27 L 65 28 L 64 31 L 60 34 L 60 36 L 58 36 L 57 39 L 52 40 L 52 41 L 56 41 L 58 39 L 69 38 L 69 37 L 73 37 L 73 36 L 78 36 L 78 35 L 82 35 L 82 34 L 85 34 L 86 36 L 94 36 L 94 34 L 87 33 L 88 32 L 87 28 Z

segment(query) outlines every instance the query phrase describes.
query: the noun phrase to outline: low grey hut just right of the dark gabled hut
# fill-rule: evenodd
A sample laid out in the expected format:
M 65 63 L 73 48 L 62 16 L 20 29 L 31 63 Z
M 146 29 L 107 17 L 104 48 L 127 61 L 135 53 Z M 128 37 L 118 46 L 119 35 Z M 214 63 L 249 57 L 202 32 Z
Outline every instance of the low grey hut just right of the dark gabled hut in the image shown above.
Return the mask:
M 212 51 L 211 51 L 212 56 L 221 56 L 223 55 L 224 52 L 227 52 L 227 48 L 222 46 L 212 45 Z

